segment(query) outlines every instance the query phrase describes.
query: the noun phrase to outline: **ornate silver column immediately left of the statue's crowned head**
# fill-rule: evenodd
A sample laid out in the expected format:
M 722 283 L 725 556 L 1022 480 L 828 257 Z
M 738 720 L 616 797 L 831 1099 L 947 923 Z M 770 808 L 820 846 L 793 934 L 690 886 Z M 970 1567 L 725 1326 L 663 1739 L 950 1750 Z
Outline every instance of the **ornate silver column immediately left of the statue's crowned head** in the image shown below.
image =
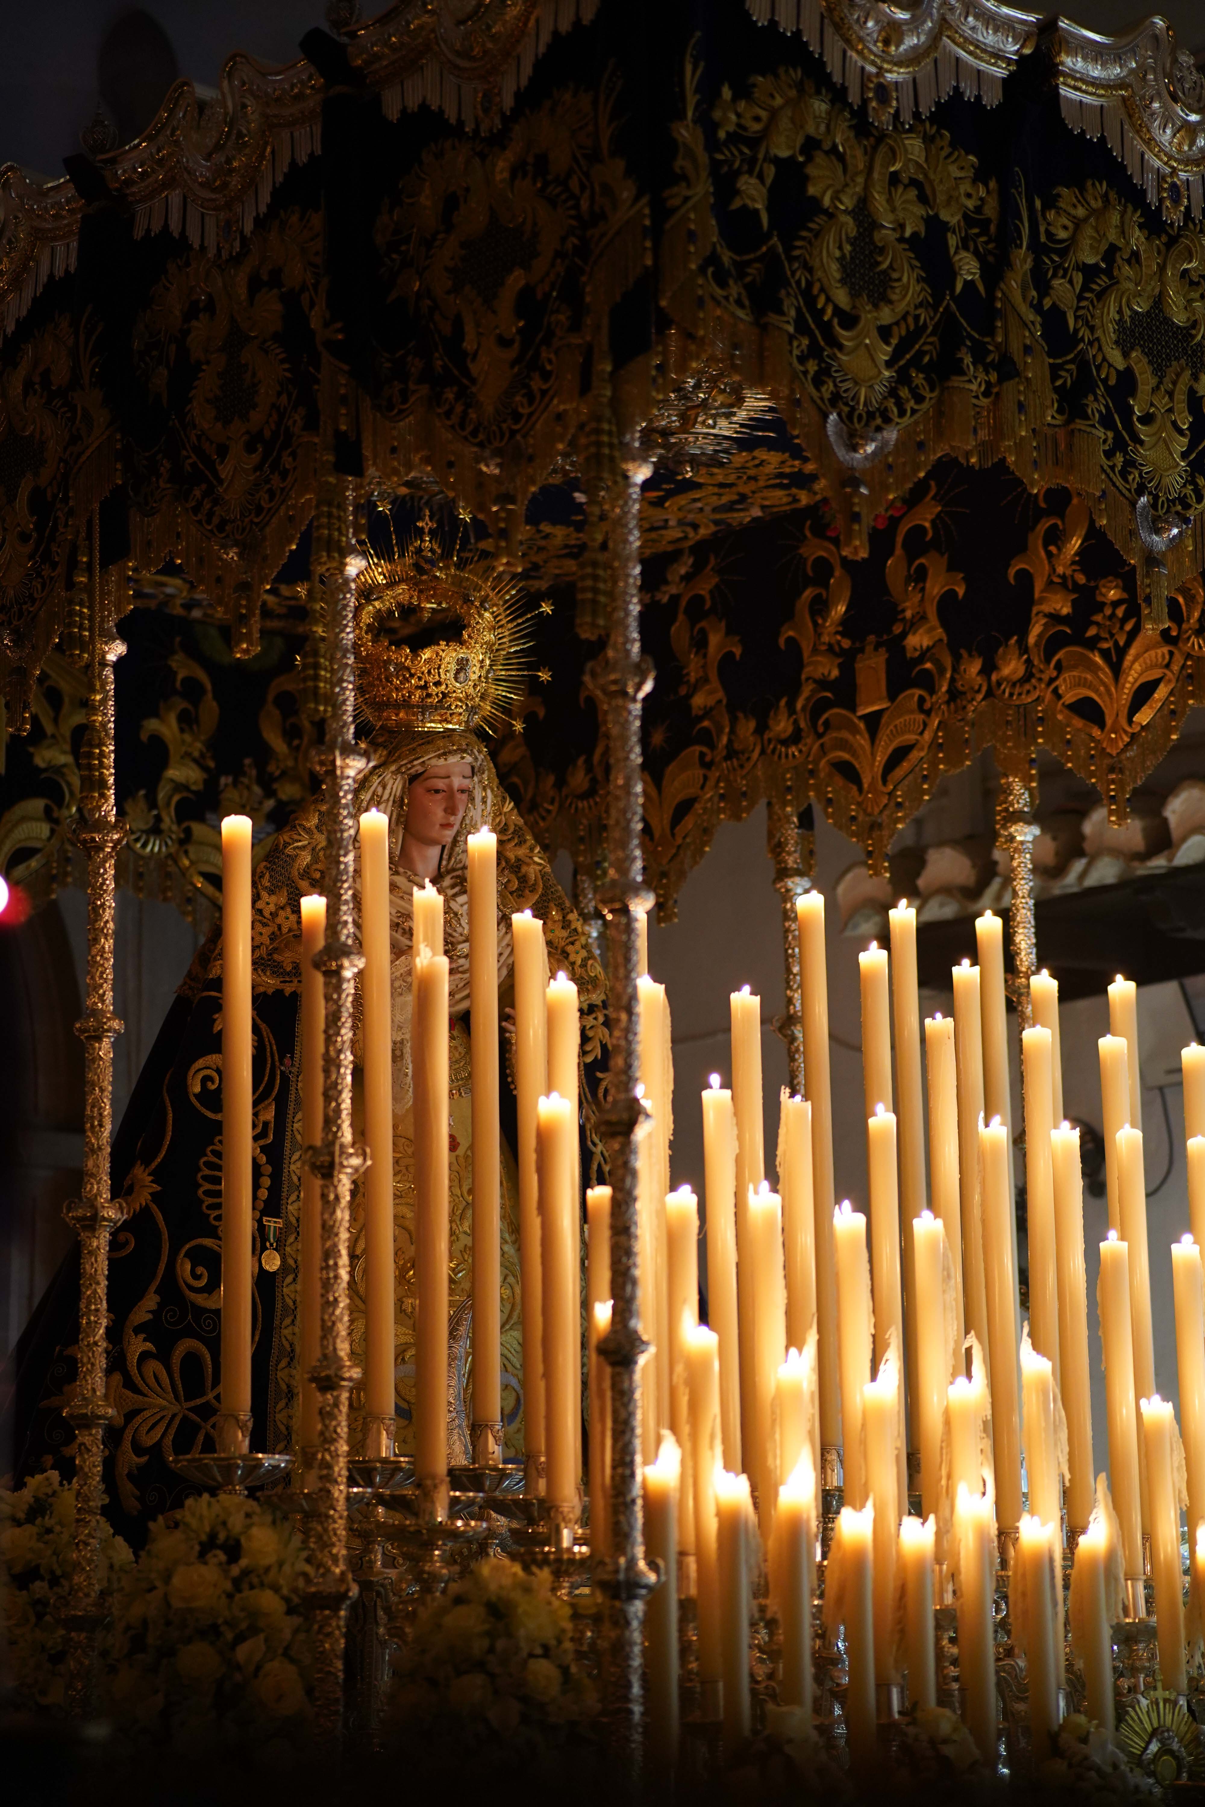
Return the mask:
M 356 748 L 356 575 L 352 481 L 327 475 L 314 511 L 314 560 L 325 575 L 331 710 L 323 744 L 327 831 L 327 941 L 323 976 L 322 1144 L 307 1147 L 322 1184 L 322 1325 L 318 1386 L 318 1494 L 311 1552 L 318 1727 L 336 1742 L 343 1726 L 343 1641 L 356 1585 L 347 1561 L 347 1408 L 358 1370 L 350 1361 L 350 1193 L 365 1166 L 352 1140 L 352 1001 L 363 954 L 354 920 L 354 801 L 363 754 Z

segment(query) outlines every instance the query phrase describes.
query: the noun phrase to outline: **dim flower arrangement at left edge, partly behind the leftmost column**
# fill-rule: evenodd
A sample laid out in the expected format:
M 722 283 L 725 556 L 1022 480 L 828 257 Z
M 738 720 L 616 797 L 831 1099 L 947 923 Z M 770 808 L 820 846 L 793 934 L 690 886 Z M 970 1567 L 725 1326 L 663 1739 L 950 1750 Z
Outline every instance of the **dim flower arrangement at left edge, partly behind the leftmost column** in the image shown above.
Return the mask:
M 16 1493 L 0 1489 L 0 1637 L 4 1668 L 29 1708 L 61 1708 L 67 1688 L 67 1630 L 74 1561 L 76 1489 L 54 1469 Z M 134 1565 L 128 1543 L 101 1520 L 101 1612 L 114 1583 Z

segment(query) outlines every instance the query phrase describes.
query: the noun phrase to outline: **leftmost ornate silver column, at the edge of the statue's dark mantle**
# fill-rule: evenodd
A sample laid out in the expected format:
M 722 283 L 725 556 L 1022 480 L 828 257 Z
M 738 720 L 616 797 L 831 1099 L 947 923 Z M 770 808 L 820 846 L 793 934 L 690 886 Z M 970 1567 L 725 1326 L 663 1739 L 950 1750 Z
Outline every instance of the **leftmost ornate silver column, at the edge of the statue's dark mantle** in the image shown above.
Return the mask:
M 105 1308 L 108 1292 L 108 1238 L 121 1220 L 110 1198 L 108 1144 L 114 1113 L 114 866 L 125 840 L 114 790 L 114 663 L 125 652 L 107 607 L 107 587 L 125 580 L 125 566 L 103 578 L 99 569 L 99 511 L 89 528 L 89 726 L 79 755 L 79 813 L 76 842 L 89 857 L 89 978 L 87 1006 L 76 1023 L 83 1041 L 83 1196 L 63 1207 L 79 1231 L 79 1377 L 67 1420 L 76 1429 L 76 1531 L 70 1579 L 69 1708 L 89 1713 L 96 1679 L 99 1630 L 99 1547 L 103 1433 L 112 1420 L 105 1397 Z

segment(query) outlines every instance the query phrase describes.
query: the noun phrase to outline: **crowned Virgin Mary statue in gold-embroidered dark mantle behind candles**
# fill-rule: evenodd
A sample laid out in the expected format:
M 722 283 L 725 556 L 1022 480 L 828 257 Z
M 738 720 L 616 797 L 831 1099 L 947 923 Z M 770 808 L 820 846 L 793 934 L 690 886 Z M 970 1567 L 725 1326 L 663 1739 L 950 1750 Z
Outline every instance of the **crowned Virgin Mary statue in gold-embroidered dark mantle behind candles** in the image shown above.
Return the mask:
M 432 600 L 432 596 L 435 600 Z M 468 1460 L 464 1352 L 472 1290 L 472 1097 L 468 1034 L 468 835 L 497 835 L 499 1003 L 511 997 L 511 914 L 542 918 L 551 970 L 567 972 L 582 1005 L 589 1064 L 602 1035 L 603 976 L 580 918 L 511 804 L 479 725 L 506 703 L 515 678 L 513 591 L 430 548 L 370 558 L 360 580 L 361 703 L 374 730 L 356 813 L 390 822 L 394 1041 L 394 1229 L 397 1447 L 410 1447 L 414 1361 L 414 1144 L 410 1119 L 410 965 L 414 887 L 444 898 L 450 961 L 450 1310 L 452 1455 Z M 417 623 L 417 625 L 416 625 Z M 325 810 L 316 797 L 273 840 L 253 889 L 253 1447 L 300 1442 L 298 1254 L 302 1193 L 300 898 L 323 889 Z M 108 1397 L 114 1406 L 110 1511 L 126 1534 L 182 1496 L 172 1456 L 211 1442 L 220 1373 L 222 1209 L 222 940 L 201 947 L 152 1048 L 114 1138 L 114 1198 L 125 1222 L 108 1270 Z M 356 1059 L 360 1037 L 356 1034 Z M 508 1072 L 506 1055 L 500 1070 Z M 502 1375 L 504 1447 L 522 1444 L 522 1301 L 515 1099 L 502 1082 Z M 508 1147 L 509 1144 L 509 1147 Z M 589 1173 L 589 1166 L 585 1167 Z M 352 1359 L 363 1357 L 363 1189 L 352 1202 Z M 61 1417 L 74 1388 L 78 1265 L 65 1263 L 23 1339 L 16 1469 L 38 1467 L 69 1438 Z M 459 1384 L 457 1384 L 459 1381 Z M 22 1411 L 22 1399 L 25 1409 Z M 352 1395 L 352 1447 L 360 1446 Z M 23 1418 L 23 1422 L 22 1422 Z M 459 1418 L 459 1438 L 457 1438 Z M 457 1451 L 457 1440 L 461 1444 Z

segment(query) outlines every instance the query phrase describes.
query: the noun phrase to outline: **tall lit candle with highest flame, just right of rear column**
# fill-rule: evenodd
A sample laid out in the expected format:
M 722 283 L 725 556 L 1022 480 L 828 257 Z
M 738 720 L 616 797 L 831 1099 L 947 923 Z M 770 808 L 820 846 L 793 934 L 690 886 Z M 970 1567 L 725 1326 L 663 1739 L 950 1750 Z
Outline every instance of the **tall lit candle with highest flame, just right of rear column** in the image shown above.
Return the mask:
M 804 1012 L 804 1095 L 811 1104 L 811 1184 L 817 1211 L 817 1346 L 820 1353 L 820 1444 L 840 1442 L 836 1355 L 836 1267 L 833 1259 L 833 1093 L 829 1084 L 829 981 L 824 898 L 806 891 L 795 904 Z

